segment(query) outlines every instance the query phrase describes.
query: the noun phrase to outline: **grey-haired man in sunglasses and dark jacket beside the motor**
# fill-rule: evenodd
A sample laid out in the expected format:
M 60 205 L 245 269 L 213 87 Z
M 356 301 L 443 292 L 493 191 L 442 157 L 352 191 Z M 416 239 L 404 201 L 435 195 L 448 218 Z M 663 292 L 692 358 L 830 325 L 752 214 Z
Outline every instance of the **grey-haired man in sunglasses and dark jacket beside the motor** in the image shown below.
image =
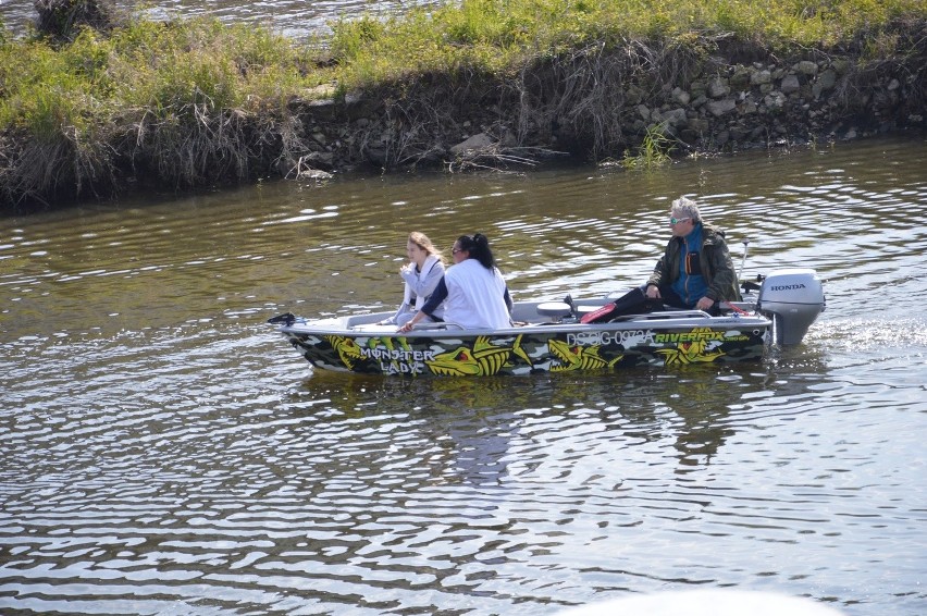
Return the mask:
M 584 316 L 583 322 L 608 321 L 663 306 L 694 308 L 715 316 L 719 301 L 740 301 L 725 232 L 702 220 L 699 206 L 685 197 L 672 201 L 669 217 L 672 237 L 646 284 Z

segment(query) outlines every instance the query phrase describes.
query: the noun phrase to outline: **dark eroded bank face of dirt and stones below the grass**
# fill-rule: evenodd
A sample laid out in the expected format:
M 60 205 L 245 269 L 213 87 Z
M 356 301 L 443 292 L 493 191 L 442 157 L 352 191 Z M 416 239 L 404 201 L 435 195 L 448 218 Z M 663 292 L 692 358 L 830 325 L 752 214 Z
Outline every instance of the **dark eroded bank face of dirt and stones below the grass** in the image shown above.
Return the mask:
M 883 59 L 863 42 L 783 57 L 728 38 L 684 47 L 628 40 L 505 75 L 418 75 L 345 97 L 319 88 L 267 114 L 191 106 L 175 124 L 126 114 L 90 148 L 7 130 L 2 200 L 22 212 L 267 177 L 530 171 L 634 157 L 654 136 L 663 151 L 685 156 L 920 132 L 927 22 L 898 24 L 895 35 Z

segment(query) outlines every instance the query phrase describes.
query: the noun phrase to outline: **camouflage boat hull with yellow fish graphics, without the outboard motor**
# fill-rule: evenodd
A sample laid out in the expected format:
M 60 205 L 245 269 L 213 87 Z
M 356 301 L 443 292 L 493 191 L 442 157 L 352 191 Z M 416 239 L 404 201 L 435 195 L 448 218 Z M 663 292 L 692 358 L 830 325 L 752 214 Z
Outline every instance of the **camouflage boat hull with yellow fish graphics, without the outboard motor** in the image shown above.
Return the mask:
M 512 315 L 520 324 L 505 330 L 431 324 L 398 333 L 395 325 L 376 324 L 390 316 L 383 312 L 293 318 L 279 331 L 322 370 L 489 377 L 755 361 L 765 354 L 771 327 L 762 315 L 709 317 L 695 310 L 631 316 L 602 324 L 556 317 L 542 321 L 539 307 L 537 303 L 517 304 Z

